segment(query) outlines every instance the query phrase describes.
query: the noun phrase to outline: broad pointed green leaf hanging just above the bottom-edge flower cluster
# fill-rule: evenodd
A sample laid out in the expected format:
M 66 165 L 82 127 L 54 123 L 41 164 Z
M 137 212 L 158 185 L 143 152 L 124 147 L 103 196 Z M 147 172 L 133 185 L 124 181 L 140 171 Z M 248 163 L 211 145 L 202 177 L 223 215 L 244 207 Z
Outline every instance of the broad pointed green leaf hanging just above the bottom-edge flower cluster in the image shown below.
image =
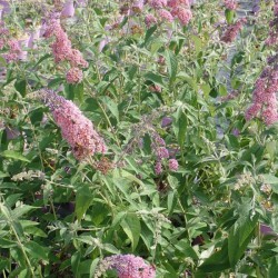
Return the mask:
M 121 221 L 121 227 L 129 237 L 132 246 L 132 251 L 135 251 L 141 232 L 141 225 L 138 216 L 136 214 L 128 214 Z

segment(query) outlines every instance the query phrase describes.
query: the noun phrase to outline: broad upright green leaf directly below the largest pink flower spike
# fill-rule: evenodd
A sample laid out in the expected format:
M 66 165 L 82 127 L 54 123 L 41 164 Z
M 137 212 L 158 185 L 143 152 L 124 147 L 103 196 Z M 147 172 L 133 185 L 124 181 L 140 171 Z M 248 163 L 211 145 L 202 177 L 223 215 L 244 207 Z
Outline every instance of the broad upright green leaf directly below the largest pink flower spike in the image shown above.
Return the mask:
M 77 190 L 76 215 L 79 221 L 82 219 L 85 212 L 90 207 L 91 200 L 91 191 L 87 185 L 83 185 Z

